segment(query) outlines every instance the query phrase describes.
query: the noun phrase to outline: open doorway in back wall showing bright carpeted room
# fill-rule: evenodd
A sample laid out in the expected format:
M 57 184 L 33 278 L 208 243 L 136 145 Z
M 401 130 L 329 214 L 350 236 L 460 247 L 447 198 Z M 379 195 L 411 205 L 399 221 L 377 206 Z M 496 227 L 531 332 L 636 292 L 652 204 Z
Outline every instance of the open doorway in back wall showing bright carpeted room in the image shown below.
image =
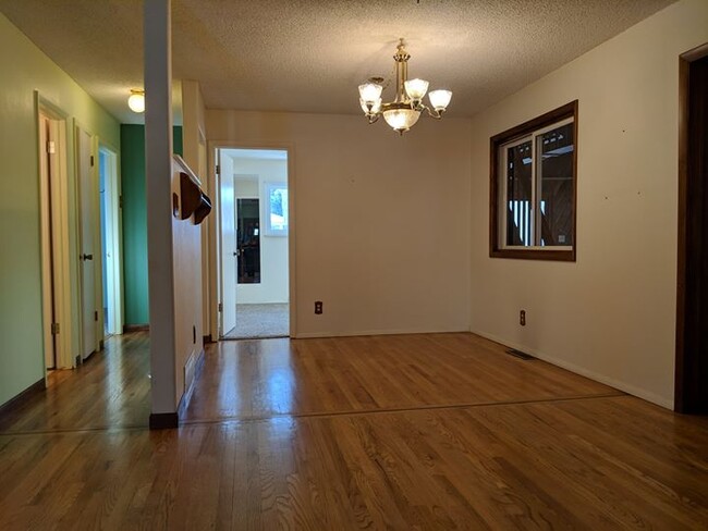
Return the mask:
M 290 335 L 288 151 L 218 150 L 223 338 Z

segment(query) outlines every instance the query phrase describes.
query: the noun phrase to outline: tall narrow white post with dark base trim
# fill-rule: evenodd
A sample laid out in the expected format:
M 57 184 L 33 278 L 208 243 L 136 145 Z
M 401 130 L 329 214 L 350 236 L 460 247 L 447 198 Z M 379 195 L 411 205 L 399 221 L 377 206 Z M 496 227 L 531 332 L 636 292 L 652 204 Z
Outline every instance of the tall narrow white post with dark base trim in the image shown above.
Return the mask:
M 174 428 L 179 419 L 174 372 L 170 0 L 145 0 L 144 14 L 150 428 Z

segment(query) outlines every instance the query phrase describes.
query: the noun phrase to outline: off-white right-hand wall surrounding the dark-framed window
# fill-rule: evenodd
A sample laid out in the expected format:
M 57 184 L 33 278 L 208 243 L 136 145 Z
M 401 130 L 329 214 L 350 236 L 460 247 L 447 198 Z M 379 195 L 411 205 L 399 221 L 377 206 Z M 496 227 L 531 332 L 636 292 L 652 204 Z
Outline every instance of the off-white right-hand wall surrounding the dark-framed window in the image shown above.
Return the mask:
M 675 3 L 473 120 L 473 332 L 672 406 L 679 55 L 706 41 L 708 2 Z M 489 258 L 489 137 L 574 99 L 577 262 Z

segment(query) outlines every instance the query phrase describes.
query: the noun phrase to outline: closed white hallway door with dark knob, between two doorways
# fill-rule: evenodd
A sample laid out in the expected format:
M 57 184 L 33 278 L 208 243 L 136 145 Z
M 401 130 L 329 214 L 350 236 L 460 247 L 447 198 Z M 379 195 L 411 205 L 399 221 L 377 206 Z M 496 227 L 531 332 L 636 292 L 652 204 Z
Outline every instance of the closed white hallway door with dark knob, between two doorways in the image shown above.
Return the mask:
M 86 359 L 96 350 L 96 252 L 100 249 L 94 248 L 98 231 L 98 218 L 95 212 L 94 202 L 94 158 L 91 155 L 91 136 L 83 129 L 78 131 L 78 195 L 81 217 L 81 291 L 82 291 L 82 358 Z

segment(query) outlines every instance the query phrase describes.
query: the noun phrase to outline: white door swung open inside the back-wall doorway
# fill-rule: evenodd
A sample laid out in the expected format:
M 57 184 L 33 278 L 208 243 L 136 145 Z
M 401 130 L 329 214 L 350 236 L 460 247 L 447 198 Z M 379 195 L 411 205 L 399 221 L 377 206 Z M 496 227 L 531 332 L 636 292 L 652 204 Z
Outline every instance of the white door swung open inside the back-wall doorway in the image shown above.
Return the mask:
M 233 161 L 219 156 L 221 207 L 221 335 L 236 325 L 236 212 Z

